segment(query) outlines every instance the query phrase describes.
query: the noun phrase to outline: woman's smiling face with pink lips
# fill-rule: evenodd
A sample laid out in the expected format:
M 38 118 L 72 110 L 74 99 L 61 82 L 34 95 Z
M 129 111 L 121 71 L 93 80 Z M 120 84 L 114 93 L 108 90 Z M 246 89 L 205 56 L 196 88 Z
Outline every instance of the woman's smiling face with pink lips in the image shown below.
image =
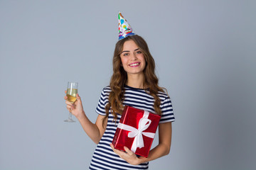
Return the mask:
M 120 57 L 122 67 L 124 67 L 127 74 L 143 74 L 143 70 L 146 67 L 145 57 L 133 40 L 124 42 Z

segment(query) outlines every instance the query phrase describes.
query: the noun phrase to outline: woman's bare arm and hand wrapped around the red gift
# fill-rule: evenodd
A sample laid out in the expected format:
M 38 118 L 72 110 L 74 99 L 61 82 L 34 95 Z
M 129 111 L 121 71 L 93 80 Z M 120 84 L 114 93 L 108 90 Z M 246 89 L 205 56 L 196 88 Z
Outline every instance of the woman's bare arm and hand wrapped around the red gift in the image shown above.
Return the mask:
M 171 148 L 171 122 L 159 124 L 159 145 L 149 151 L 149 156 L 147 158 L 138 158 L 136 154 L 134 154 L 127 147 L 124 147 L 126 152 L 114 149 L 112 144 L 111 147 L 114 152 L 119 155 L 119 157 L 133 165 L 142 164 L 144 162 L 149 162 L 159 157 L 163 157 L 164 155 L 169 154 Z

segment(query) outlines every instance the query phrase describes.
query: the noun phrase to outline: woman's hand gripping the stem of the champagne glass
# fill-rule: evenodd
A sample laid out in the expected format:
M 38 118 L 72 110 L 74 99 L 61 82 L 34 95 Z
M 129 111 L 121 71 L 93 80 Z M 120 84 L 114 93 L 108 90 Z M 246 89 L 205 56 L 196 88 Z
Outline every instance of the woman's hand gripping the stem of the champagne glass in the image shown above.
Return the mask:
M 65 91 L 65 94 L 67 94 L 67 91 Z M 74 103 L 71 103 L 68 101 L 67 96 L 64 97 L 68 111 L 70 111 L 73 115 L 75 115 L 76 118 L 79 119 L 80 117 L 82 117 L 82 115 L 85 115 L 85 112 L 83 111 L 82 101 L 78 94 L 76 95 L 76 98 L 77 100 Z

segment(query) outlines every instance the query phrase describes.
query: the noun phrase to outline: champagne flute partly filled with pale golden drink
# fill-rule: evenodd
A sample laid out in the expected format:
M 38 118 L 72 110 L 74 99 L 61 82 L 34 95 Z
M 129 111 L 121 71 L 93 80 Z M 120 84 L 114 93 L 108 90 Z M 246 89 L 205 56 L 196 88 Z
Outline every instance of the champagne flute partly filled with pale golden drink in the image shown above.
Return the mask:
M 74 103 L 76 101 L 77 94 L 78 94 L 78 83 L 68 82 L 68 88 L 67 88 L 68 101 L 71 103 Z M 73 120 L 71 116 L 72 116 L 72 113 L 70 110 L 68 119 L 64 120 L 64 122 L 75 123 L 75 120 Z

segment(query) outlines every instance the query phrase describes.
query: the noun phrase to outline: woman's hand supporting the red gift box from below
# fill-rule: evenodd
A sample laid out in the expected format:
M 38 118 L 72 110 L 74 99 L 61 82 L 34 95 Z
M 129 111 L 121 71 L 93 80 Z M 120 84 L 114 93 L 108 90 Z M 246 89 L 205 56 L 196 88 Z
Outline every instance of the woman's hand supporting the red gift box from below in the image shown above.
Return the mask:
M 112 147 L 114 153 L 118 154 L 119 157 L 124 159 L 129 164 L 138 165 L 138 164 L 142 164 L 143 162 L 146 162 L 145 160 L 146 157 L 137 157 L 136 154 L 134 154 L 134 152 L 132 152 L 127 147 L 124 147 L 125 152 L 119 149 L 114 149 L 114 146 L 112 145 L 112 143 L 110 143 L 110 147 Z

